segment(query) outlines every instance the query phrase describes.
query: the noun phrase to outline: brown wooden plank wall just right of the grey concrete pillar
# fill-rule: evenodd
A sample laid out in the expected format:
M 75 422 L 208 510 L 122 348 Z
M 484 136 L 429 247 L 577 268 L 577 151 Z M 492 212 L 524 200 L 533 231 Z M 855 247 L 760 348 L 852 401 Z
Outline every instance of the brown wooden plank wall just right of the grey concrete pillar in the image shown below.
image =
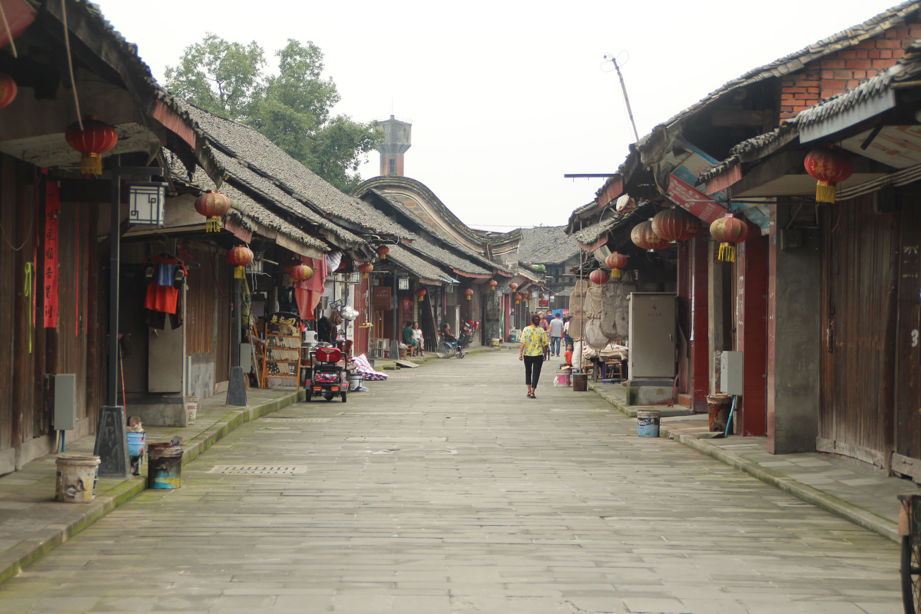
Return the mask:
M 825 347 L 817 447 L 888 468 L 899 236 L 898 216 L 876 213 L 876 198 L 835 203 L 822 214 Z

